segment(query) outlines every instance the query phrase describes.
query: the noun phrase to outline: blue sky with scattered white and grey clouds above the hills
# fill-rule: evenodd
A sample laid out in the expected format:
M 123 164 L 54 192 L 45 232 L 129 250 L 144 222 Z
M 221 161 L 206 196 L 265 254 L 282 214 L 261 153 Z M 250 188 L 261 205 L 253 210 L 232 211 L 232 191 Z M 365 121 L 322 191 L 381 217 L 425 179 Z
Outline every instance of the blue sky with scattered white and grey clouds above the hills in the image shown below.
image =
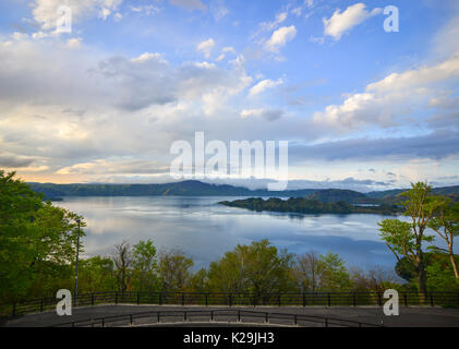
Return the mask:
M 203 131 L 288 141 L 291 189 L 459 184 L 458 87 L 455 0 L 0 0 L 0 169 L 26 181 L 169 182 Z

